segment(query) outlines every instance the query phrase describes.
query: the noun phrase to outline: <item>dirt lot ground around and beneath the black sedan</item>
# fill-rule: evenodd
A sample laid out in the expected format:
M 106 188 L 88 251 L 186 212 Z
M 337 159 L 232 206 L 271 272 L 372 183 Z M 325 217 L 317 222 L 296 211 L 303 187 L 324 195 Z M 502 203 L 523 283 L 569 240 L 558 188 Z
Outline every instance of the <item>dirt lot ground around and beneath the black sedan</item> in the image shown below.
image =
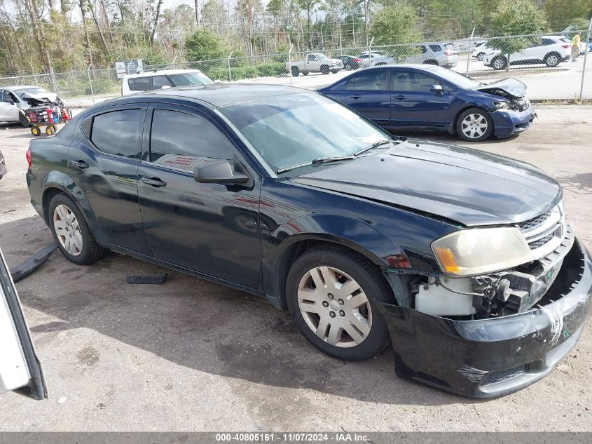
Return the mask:
M 589 248 L 592 107 L 537 111 L 523 135 L 472 146 L 557 177 Z M 9 265 L 51 241 L 29 203 L 29 137 L 0 127 L 8 163 L 0 247 Z M 125 283 L 128 274 L 155 271 L 163 270 L 116 254 L 81 267 L 55 253 L 18 283 L 50 397 L 2 396 L 0 431 L 592 431 L 589 321 L 551 375 L 474 401 L 395 377 L 391 349 L 363 363 L 324 356 L 287 314 L 245 293 L 173 271 L 164 285 Z

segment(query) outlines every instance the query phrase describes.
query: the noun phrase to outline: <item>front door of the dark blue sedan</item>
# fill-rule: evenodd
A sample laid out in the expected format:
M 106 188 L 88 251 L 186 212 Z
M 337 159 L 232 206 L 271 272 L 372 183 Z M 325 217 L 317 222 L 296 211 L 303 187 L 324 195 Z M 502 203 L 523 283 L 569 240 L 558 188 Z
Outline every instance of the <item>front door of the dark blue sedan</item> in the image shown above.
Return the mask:
M 455 91 L 434 77 L 392 69 L 391 125 L 398 127 L 443 127 L 453 120 L 450 102 Z M 443 93 L 432 91 L 441 84 Z

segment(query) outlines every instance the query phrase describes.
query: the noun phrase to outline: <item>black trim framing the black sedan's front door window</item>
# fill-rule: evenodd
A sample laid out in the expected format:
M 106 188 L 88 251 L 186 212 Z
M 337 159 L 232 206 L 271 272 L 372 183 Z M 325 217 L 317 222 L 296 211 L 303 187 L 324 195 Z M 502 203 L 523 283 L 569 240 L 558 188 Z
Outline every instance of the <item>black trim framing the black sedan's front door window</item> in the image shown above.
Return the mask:
M 214 121 L 214 119 L 212 119 L 211 116 L 209 116 L 207 114 L 207 112 L 203 112 L 200 109 L 197 109 L 195 107 L 191 107 L 188 105 L 179 105 L 178 103 L 171 103 L 171 102 L 150 102 L 148 104 L 147 109 L 146 109 L 145 119 L 144 119 L 144 131 L 143 131 L 144 135 L 142 137 L 142 154 L 140 156 L 140 163 L 144 163 L 144 164 L 149 165 L 151 167 L 163 168 L 164 170 L 169 170 L 174 173 L 182 173 L 183 175 L 186 175 L 187 177 L 193 177 L 193 171 L 191 171 L 191 170 L 184 170 L 183 168 L 177 168 L 174 166 L 163 165 L 161 163 L 154 163 L 149 160 L 151 134 L 152 134 L 152 119 L 153 119 L 153 115 L 154 115 L 154 112 L 156 111 L 156 109 L 160 109 L 163 111 L 183 112 L 185 114 L 189 114 L 191 116 L 196 116 L 196 117 L 201 117 L 201 118 L 209 121 L 209 123 L 212 123 L 212 125 L 214 125 L 214 127 L 217 130 L 219 130 L 221 135 L 223 135 L 223 137 L 226 137 L 226 140 L 228 140 L 228 143 L 230 144 L 230 149 L 232 149 L 232 152 L 234 155 L 233 156 L 234 159 L 238 160 L 242 164 L 242 166 L 245 167 L 245 169 L 247 170 L 247 173 L 251 177 L 256 179 L 256 181 L 261 179 L 261 176 L 258 173 L 256 173 L 256 169 L 249 164 L 247 159 L 245 159 L 245 156 L 242 154 L 242 152 L 240 152 L 240 148 L 237 146 L 237 144 L 235 144 L 235 142 L 232 140 L 230 135 L 228 135 L 228 133 L 223 128 L 221 128 L 221 126 L 216 121 Z

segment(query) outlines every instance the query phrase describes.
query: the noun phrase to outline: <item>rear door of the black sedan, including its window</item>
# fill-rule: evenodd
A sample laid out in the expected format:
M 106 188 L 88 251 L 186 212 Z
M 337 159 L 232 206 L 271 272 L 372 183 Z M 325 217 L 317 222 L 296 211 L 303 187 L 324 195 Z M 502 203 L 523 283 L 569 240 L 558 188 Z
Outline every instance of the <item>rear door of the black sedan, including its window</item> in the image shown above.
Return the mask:
M 149 255 L 137 189 L 145 116 L 146 105 L 133 104 L 84 119 L 70 145 L 68 169 L 106 241 Z

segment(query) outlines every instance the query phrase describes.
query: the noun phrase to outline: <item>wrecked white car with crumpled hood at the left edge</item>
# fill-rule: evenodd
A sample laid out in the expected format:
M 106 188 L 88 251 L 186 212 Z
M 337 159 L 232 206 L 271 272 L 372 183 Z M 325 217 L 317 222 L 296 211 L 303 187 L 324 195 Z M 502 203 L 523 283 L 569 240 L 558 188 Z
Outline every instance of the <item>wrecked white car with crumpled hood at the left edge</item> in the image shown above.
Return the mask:
M 0 88 L 0 122 L 19 122 L 28 127 L 25 109 L 60 100 L 56 93 L 40 86 L 22 85 Z

